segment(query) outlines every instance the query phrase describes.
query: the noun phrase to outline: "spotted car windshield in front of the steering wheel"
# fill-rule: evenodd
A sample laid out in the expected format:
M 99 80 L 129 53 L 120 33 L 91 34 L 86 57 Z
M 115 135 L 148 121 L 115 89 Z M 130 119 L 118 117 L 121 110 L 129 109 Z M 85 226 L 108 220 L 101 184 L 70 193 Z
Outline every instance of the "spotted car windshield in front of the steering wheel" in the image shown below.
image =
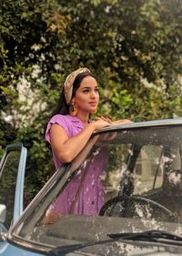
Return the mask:
M 182 127 L 96 133 L 41 195 L 15 228 L 30 242 L 60 247 L 150 229 L 181 234 Z

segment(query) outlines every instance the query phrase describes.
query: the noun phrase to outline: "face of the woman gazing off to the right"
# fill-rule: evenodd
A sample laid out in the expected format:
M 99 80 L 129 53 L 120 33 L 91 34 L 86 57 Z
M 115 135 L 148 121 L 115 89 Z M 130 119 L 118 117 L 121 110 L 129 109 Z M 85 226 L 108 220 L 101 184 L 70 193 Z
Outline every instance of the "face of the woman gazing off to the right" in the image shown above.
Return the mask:
M 90 76 L 84 78 L 73 100 L 76 101 L 79 112 L 95 112 L 99 101 L 96 79 Z

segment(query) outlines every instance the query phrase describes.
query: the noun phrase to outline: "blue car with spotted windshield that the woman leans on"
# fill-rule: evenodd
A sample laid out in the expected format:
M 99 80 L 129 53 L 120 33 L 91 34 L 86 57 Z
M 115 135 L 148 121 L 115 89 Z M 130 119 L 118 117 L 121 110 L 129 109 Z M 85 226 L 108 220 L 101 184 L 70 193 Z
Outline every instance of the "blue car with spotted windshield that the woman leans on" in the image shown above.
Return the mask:
M 26 155 L 20 158 L 23 187 Z M 182 119 L 100 129 L 23 213 L 21 193 L 15 190 L 15 220 L 1 231 L 0 255 L 182 255 Z M 56 205 L 60 215 L 50 220 Z

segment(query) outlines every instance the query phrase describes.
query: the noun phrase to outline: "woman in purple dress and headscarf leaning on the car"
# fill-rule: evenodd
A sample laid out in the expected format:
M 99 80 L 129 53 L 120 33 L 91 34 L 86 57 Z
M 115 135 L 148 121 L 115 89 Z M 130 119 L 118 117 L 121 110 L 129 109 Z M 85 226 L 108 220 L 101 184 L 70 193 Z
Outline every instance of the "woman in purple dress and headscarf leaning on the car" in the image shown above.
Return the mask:
M 51 144 L 56 169 L 63 163 L 71 162 L 84 148 L 96 129 L 113 123 L 104 117 L 90 122 L 90 114 L 96 113 L 98 102 L 98 85 L 95 76 L 89 69 L 76 69 L 66 77 L 62 99 L 45 130 L 45 140 Z M 130 123 L 128 120 L 119 122 Z M 102 170 L 102 166 L 105 165 L 106 155 L 104 157 L 104 154 L 104 152 L 100 152 L 97 156 L 98 159 L 94 161 L 95 165 L 99 165 L 99 170 Z M 104 192 L 99 179 L 101 174 L 94 169 L 96 170 L 93 165 L 89 165 L 84 177 L 75 176 L 49 208 L 49 214 L 50 212 L 54 212 L 56 215 L 97 214 L 104 201 Z M 97 181 L 95 189 L 90 187 L 90 184 L 93 184 L 90 176 Z M 79 191 L 80 184 L 82 184 L 82 191 Z M 76 198 L 76 194 L 79 194 L 79 197 Z M 94 204 L 93 198 L 95 198 Z

